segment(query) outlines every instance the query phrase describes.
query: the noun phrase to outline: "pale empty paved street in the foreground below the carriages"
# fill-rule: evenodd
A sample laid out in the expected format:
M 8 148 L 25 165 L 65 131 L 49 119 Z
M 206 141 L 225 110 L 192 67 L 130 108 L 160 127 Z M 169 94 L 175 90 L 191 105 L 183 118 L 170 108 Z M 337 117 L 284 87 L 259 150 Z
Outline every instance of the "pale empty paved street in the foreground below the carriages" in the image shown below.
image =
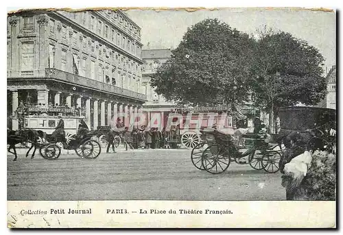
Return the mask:
M 104 151 L 104 149 L 102 149 Z M 231 162 L 211 175 L 196 169 L 190 150 L 101 153 L 95 160 L 63 151 L 58 160 L 8 155 L 8 200 L 283 200 L 281 174 Z

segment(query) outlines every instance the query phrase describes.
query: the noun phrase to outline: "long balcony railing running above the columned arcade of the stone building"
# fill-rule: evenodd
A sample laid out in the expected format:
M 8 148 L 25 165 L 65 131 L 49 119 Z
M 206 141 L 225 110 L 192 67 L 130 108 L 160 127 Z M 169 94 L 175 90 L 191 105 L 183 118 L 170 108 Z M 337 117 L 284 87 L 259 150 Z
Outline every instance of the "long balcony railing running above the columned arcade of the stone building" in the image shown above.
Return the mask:
M 143 101 L 147 99 L 146 95 L 144 94 L 134 92 L 132 90 L 123 89 L 123 88 L 113 86 L 110 84 L 105 84 L 103 82 L 99 82 L 94 79 L 89 79 L 87 77 L 82 77 L 80 75 L 75 75 L 73 73 L 60 71 L 58 69 L 45 69 L 45 76 L 49 78 L 59 79 L 64 82 L 70 82 L 72 84 L 86 86 L 88 88 L 111 92 L 115 95 L 121 95 L 121 96 L 130 97 L 134 99 L 140 99 Z

